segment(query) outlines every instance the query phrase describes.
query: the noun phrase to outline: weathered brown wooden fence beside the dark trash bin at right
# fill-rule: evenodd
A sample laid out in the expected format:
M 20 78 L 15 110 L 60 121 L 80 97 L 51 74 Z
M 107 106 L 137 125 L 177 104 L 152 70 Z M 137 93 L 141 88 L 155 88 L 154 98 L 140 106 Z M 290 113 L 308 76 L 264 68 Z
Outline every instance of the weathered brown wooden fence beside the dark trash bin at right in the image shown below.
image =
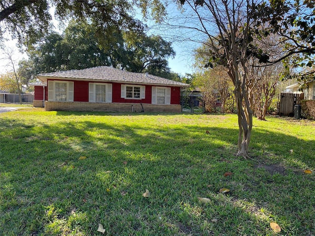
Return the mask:
M 293 117 L 294 106 L 301 104 L 301 100 L 303 99 L 304 93 L 281 93 L 279 115 Z

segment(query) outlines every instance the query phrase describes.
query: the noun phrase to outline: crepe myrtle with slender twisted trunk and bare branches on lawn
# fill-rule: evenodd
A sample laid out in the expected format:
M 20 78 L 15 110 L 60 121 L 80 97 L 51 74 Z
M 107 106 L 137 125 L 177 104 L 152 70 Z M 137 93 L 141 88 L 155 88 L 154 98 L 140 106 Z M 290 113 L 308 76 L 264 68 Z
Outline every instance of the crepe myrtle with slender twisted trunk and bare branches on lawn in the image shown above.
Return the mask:
M 189 12 L 195 22 L 198 20 L 188 23 L 186 18 L 181 27 L 206 36 L 206 40 L 199 41 L 209 48 L 206 66 L 223 65 L 233 82 L 239 125 L 237 156 L 249 158 L 253 111 L 249 101 L 248 86 L 252 81 L 248 62 L 252 54 L 259 53 L 251 50 L 253 0 L 181 0 L 180 3 L 184 12 Z

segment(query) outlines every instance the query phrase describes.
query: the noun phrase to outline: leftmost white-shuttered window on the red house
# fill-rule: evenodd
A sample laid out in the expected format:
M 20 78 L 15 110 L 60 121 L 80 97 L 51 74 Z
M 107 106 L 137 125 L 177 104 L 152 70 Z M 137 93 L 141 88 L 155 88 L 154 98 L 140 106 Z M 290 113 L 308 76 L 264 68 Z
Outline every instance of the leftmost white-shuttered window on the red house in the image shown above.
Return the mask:
M 73 102 L 73 86 L 70 81 L 48 81 L 48 101 Z

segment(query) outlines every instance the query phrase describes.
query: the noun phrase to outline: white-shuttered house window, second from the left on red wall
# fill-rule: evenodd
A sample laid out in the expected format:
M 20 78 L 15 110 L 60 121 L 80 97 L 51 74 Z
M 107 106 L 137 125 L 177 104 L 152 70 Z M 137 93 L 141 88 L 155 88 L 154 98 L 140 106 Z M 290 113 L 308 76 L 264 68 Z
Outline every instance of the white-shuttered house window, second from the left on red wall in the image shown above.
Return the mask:
M 112 84 L 89 83 L 89 102 L 112 102 Z

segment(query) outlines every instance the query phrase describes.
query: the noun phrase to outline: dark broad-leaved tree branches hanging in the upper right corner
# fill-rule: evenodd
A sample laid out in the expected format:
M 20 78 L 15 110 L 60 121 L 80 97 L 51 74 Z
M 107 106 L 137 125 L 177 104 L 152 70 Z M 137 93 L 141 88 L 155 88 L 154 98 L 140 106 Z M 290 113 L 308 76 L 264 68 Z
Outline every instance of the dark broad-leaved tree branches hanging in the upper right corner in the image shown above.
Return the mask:
M 279 35 L 284 52 L 267 51 L 268 63 L 284 62 L 284 78 L 299 80 L 314 78 L 315 74 L 315 1 L 314 0 L 269 0 L 255 5 L 255 33 L 260 37 Z M 301 70 L 303 67 L 311 69 Z

